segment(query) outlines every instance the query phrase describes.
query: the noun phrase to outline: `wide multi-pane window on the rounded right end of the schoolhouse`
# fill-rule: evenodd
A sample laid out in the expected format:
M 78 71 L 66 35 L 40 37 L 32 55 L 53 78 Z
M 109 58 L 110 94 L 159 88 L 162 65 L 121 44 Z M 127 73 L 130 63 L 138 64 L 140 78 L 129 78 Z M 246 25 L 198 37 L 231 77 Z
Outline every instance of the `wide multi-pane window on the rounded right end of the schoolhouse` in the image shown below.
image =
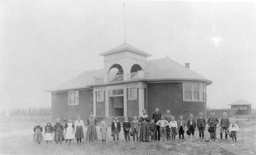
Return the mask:
M 185 91 L 185 83 L 190 83 L 190 91 Z M 199 86 L 199 90 L 196 91 L 198 92 L 198 99 L 194 99 L 194 85 L 195 84 L 198 84 Z M 200 90 L 200 84 L 203 84 L 203 91 Z M 206 85 L 205 83 L 201 83 L 201 82 L 182 82 L 182 87 L 183 87 L 183 102 L 206 102 Z M 185 92 L 190 92 L 191 93 L 191 96 L 190 98 L 191 99 L 185 99 Z M 200 94 L 203 93 L 203 100 L 200 99 Z

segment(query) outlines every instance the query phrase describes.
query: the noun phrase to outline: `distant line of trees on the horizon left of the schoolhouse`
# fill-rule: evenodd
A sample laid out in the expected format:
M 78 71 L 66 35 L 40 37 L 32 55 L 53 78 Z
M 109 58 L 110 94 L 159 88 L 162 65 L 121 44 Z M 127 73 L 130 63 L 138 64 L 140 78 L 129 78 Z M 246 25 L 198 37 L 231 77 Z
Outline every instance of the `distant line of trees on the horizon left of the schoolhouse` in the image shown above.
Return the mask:
M 8 109 L 9 116 L 50 116 L 51 107 L 15 107 Z M 6 109 L 1 110 L 1 116 L 6 116 Z

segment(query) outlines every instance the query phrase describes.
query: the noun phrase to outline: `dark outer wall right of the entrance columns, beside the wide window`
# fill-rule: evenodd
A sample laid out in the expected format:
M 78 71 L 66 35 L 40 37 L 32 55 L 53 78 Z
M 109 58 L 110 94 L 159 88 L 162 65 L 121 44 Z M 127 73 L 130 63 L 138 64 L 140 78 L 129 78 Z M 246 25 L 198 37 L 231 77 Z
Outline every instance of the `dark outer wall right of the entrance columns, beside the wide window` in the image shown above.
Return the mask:
M 199 117 L 199 112 L 203 112 L 206 118 L 206 102 L 183 102 L 182 83 L 152 83 L 147 84 L 147 113 L 150 118 L 155 113 L 156 106 L 162 115 L 166 110 L 175 116 L 175 120 L 182 115 L 184 120 L 189 119 L 189 114 L 194 114 L 194 118 Z

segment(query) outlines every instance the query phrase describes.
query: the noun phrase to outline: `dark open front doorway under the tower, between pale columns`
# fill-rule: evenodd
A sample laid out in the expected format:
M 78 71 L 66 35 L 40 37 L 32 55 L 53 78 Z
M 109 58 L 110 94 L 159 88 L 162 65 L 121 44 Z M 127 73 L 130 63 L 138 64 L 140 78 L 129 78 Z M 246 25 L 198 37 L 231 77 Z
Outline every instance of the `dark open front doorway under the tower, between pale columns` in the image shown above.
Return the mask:
M 123 116 L 123 96 L 109 97 L 110 117 Z

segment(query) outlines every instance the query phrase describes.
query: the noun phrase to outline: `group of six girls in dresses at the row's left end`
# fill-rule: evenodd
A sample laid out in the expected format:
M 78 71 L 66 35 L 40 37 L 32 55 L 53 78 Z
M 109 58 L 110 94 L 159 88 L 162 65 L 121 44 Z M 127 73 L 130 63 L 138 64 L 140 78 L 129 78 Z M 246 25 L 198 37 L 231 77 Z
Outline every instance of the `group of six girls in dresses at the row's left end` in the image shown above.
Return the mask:
M 45 126 L 45 138 L 42 137 L 42 127 L 40 126 L 40 122 L 36 122 L 36 126 L 34 127 L 34 137 L 33 142 L 40 144 L 43 140 L 47 142 L 54 141 L 56 144 L 61 144 L 63 141 L 71 144 L 71 140 L 77 139 L 77 144 L 81 145 L 81 139 L 84 135 L 84 122 L 81 120 L 81 116 L 77 116 L 77 120 L 72 122 L 71 118 L 68 118 L 68 122 L 63 126 L 60 122 L 59 118 L 56 119 L 56 123 L 54 126 L 51 125 L 50 122 L 47 122 Z M 90 142 L 94 142 L 98 140 L 97 136 L 97 119 L 93 117 L 93 114 L 90 114 L 90 118 L 87 119 L 87 137 L 86 140 Z M 103 128 L 101 129 L 103 132 Z M 106 128 L 105 128 L 106 131 Z

